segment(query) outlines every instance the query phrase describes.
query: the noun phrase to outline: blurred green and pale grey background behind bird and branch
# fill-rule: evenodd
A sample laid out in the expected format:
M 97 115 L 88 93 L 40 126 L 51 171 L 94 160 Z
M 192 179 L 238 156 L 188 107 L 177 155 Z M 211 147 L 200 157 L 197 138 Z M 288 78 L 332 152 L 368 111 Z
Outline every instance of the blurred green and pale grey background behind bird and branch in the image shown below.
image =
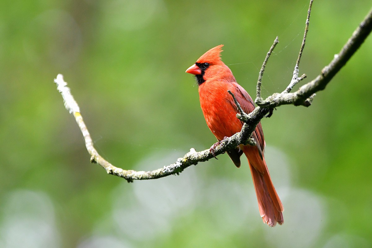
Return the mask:
M 371 9 L 315 1 L 300 64 L 320 73 Z M 152 170 L 215 138 L 185 70 L 224 44 L 255 95 L 289 83 L 308 1 L 78 0 L 0 3 L 0 247 L 371 247 L 372 37 L 311 107 L 263 119 L 266 158 L 285 207 L 259 216 L 247 162 L 227 155 L 179 176 L 125 180 L 90 164 L 53 79 L 64 75 L 98 151 Z

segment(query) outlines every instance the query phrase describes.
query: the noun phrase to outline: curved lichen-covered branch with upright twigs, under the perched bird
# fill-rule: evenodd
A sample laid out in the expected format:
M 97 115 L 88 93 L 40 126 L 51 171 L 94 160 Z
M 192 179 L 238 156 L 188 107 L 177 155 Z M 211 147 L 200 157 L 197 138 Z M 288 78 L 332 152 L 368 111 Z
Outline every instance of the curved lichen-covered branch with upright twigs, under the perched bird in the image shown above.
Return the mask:
M 312 0 L 311 0 L 312 3 Z M 308 11 L 308 18 L 307 18 L 307 28 L 308 28 L 308 19 L 310 17 L 310 9 L 311 3 L 309 6 Z M 265 100 L 259 99 L 256 103 L 259 105 L 257 106 L 251 113 L 247 114 L 244 113 L 241 108 L 237 114 L 237 117 L 244 122 L 243 128 L 241 132 L 235 133 L 229 138 L 223 139 L 221 144 L 217 145 L 214 149 L 214 155 L 219 155 L 228 151 L 232 148 L 235 148 L 239 144 L 254 144 L 252 143 L 252 139 L 250 138 L 252 132 L 256 128 L 256 125 L 260 122 L 260 120 L 266 116 L 268 113 L 270 114 L 270 110 L 275 107 L 284 104 L 294 104 L 295 106 L 303 105 L 303 106 L 310 106 L 312 100 L 314 99 L 315 93 L 317 91 L 323 90 L 325 86 L 329 83 L 329 81 L 334 77 L 334 75 L 343 67 L 346 62 L 352 57 L 352 55 L 357 51 L 357 49 L 362 45 L 366 37 L 371 33 L 372 30 L 372 10 L 368 13 L 362 23 L 358 26 L 358 28 L 354 31 L 351 38 L 347 41 L 344 47 L 341 49 L 339 54 L 334 56 L 334 59 L 323 68 L 320 75 L 318 75 L 315 79 L 310 81 L 309 83 L 305 84 L 304 86 L 300 87 L 294 93 L 290 93 L 288 90 L 283 91 L 282 93 L 275 93 L 271 96 L 267 97 Z M 304 39 L 306 38 L 307 30 L 305 30 Z M 276 42 L 274 44 L 276 45 Z M 303 40 L 303 45 L 305 41 Z M 270 51 L 272 52 L 275 45 L 272 46 Z M 301 45 L 300 53 L 302 53 L 303 45 Z M 269 52 L 270 52 L 269 51 Z M 270 52 L 270 54 L 271 54 Z M 266 56 L 265 62 L 262 68 L 262 74 L 264 71 L 264 66 L 266 66 L 267 59 L 269 58 L 269 53 Z M 299 55 L 301 58 L 301 55 Z M 299 59 L 298 63 L 299 64 Z M 297 66 L 298 67 L 298 66 Z M 296 67 L 295 67 L 296 70 Z M 297 72 L 298 73 L 298 72 Z M 262 78 L 262 74 L 260 72 L 260 78 Z M 298 74 L 297 74 L 298 76 Z M 305 78 L 302 75 L 300 78 L 297 78 L 301 81 L 301 78 Z M 121 168 L 115 167 L 110 164 L 108 161 L 103 159 L 96 149 L 93 146 L 92 138 L 88 132 L 88 129 L 83 121 L 83 117 L 80 114 L 80 109 L 74 97 L 71 94 L 70 89 L 67 87 L 67 83 L 63 80 L 63 76 L 61 74 L 57 75 L 57 78 L 54 80 L 57 84 L 57 89 L 60 91 L 62 98 L 64 100 L 64 104 L 66 109 L 72 113 L 75 117 L 75 120 L 83 134 L 84 141 L 86 144 L 87 151 L 91 155 L 90 161 L 96 164 L 99 164 L 103 168 L 105 168 L 108 174 L 116 175 L 122 178 L 125 178 L 128 182 L 132 182 L 134 180 L 145 180 L 145 179 L 155 179 L 160 177 L 165 177 L 167 175 L 179 174 L 185 168 L 189 167 L 190 165 L 196 165 L 198 162 L 207 161 L 214 157 L 214 155 L 206 149 L 204 151 L 196 152 L 195 149 L 191 148 L 190 152 L 185 154 L 182 158 L 178 158 L 174 164 L 164 166 L 163 168 L 153 170 L 153 171 L 133 171 L 133 170 L 123 170 Z M 297 83 L 298 83 L 297 82 Z M 292 80 L 291 80 L 292 83 Z M 261 80 L 257 83 L 257 97 L 260 97 L 260 85 Z M 290 84 L 291 85 L 291 84 Z M 288 92 L 287 92 L 288 91 Z M 237 104 L 238 106 L 238 104 Z

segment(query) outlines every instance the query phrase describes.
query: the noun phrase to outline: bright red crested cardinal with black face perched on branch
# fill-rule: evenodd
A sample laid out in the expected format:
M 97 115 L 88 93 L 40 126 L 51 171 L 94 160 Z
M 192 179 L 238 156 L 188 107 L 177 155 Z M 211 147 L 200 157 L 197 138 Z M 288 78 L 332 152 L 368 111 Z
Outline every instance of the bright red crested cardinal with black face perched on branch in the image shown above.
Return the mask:
M 246 90 L 241 87 L 232 75 L 230 68 L 221 61 L 220 53 L 223 45 L 216 46 L 203 54 L 186 73 L 195 75 L 199 89 L 200 106 L 206 123 L 219 141 L 225 136 L 232 136 L 241 131 L 243 122 L 238 113 L 230 90 L 246 113 L 254 109 L 254 103 Z M 265 141 L 261 123 L 252 134 L 257 146 L 239 145 L 227 151 L 236 167 L 240 167 L 240 156 L 244 153 L 250 166 L 254 189 L 256 190 L 260 215 L 269 226 L 283 224 L 283 205 L 271 181 L 269 170 L 263 155 Z M 211 147 L 213 151 L 214 146 Z

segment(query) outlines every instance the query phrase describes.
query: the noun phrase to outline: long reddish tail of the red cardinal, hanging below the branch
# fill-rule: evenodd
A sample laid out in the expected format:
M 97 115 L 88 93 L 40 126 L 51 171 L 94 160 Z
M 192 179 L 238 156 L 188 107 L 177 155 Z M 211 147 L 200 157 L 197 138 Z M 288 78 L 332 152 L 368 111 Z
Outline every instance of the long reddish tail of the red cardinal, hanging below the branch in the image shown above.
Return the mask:
M 271 181 L 265 159 L 261 159 L 256 146 L 244 146 L 244 154 L 247 156 L 253 178 L 254 190 L 256 190 L 260 215 L 264 223 L 275 226 L 282 225 L 284 211 L 283 204 L 276 193 Z

